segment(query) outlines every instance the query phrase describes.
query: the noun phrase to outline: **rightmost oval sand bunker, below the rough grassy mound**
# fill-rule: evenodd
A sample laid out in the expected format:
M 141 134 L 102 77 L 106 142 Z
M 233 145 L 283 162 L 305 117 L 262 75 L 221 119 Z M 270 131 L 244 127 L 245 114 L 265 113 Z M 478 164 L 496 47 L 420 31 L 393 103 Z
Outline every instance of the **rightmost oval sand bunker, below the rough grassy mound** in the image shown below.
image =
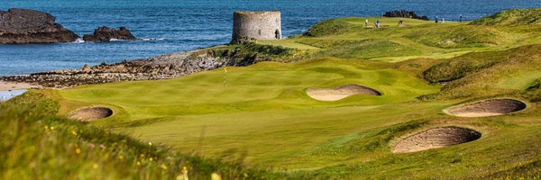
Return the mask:
M 514 99 L 492 99 L 458 105 L 445 110 L 445 112 L 460 117 L 486 117 L 518 112 L 526 107 L 526 103 Z

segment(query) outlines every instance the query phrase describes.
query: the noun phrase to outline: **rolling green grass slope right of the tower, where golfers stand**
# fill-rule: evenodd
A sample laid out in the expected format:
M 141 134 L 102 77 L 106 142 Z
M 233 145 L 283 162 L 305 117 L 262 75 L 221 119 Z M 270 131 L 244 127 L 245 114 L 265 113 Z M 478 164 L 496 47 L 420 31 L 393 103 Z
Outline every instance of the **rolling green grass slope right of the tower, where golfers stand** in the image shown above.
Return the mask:
M 512 17 L 541 19 L 537 17 L 538 9 L 523 11 L 529 13 Z M 400 19 L 405 20 L 404 25 L 399 26 Z M 301 36 L 287 40 L 258 40 L 256 43 L 304 50 L 306 58 L 330 56 L 398 62 L 415 58 L 454 58 L 470 52 L 511 49 L 541 42 L 541 31 L 538 31 L 541 26 L 536 23 L 494 27 L 477 22 L 434 23 L 381 17 L 369 18 L 370 24 L 365 27 L 364 20 L 355 17 L 331 19 L 317 23 Z M 372 23 L 377 20 L 383 28 L 373 28 Z

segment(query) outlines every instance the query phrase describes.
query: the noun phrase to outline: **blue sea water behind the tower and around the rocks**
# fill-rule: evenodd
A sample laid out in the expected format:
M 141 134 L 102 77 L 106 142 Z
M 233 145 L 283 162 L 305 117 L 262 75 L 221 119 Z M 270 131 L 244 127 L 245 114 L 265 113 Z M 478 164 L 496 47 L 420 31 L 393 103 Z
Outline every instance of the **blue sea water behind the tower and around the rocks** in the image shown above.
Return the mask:
M 0 0 L 0 10 L 30 8 L 57 16 L 79 36 L 98 26 L 128 27 L 145 40 L 109 43 L 0 44 L 0 75 L 113 63 L 228 43 L 237 10 L 280 10 L 284 35 L 346 16 L 378 16 L 396 9 L 430 18 L 477 19 L 511 8 L 541 7 L 541 0 Z

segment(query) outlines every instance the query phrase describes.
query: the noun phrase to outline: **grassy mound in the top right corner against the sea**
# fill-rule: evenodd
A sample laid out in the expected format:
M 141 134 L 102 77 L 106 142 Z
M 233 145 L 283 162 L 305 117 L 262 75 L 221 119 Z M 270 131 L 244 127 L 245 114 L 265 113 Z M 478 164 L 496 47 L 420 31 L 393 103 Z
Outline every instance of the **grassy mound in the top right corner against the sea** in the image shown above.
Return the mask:
M 541 24 L 541 8 L 512 9 L 473 21 L 474 25 L 538 25 Z

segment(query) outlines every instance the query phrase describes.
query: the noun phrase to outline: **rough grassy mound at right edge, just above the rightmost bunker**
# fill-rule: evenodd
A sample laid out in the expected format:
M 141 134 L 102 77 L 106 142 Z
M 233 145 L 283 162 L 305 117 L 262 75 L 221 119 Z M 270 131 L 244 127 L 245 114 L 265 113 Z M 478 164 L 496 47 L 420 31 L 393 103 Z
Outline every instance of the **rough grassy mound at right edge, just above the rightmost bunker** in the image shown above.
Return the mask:
M 539 58 L 539 44 L 470 53 L 430 67 L 424 76 L 429 82 L 446 84 L 436 94 L 440 98 L 520 93 L 528 85 L 535 86 L 535 80 L 541 77 Z

